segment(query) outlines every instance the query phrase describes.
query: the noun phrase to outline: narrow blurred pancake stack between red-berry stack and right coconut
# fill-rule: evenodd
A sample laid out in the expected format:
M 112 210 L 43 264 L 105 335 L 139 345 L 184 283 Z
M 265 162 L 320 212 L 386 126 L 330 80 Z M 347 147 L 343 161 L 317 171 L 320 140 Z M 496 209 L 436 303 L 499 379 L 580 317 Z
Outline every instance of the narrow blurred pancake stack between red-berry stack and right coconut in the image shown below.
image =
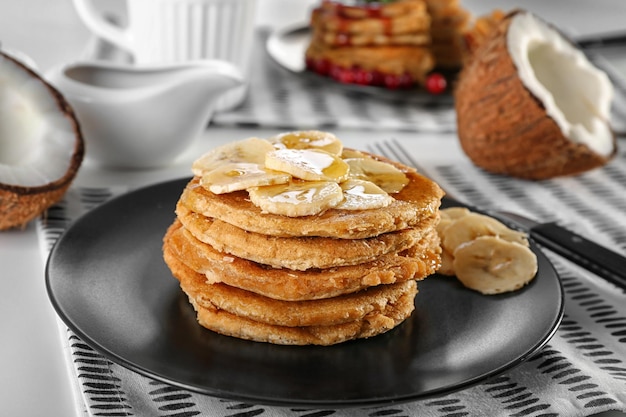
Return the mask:
M 464 34 L 471 14 L 460 0 L 426 0 L 431 17 L 431 50 L 438 68 L 458 69 L 466 54 Z

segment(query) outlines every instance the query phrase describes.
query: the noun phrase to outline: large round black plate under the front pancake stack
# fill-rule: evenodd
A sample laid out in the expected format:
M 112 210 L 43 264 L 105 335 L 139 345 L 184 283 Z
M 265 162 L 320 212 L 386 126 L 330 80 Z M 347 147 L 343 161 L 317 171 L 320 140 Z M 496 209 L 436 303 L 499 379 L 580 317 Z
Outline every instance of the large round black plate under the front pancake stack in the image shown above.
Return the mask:
M 419 284 L 413 315 L 368 340 L 277 346 L 212 333 L 161 257 L 187 179 L 113 199 L 78 219 L 53 248 L 46 280 L 63 321 L 114 362 L 193 391 L 242 401 L 367 406 L 446 394 L 524 361 L 563 314 L 546 257 L 524 289 L 483 296 L 454 278 Z

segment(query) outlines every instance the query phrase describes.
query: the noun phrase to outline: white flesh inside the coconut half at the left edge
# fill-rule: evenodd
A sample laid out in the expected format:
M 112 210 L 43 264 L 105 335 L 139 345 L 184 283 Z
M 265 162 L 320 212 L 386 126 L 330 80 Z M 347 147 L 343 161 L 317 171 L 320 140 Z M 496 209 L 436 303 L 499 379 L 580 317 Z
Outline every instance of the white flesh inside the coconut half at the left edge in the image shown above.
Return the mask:
M 63 177 L 75 141 L 41 80 L 0 55 L 0 183 L 35 187 Z

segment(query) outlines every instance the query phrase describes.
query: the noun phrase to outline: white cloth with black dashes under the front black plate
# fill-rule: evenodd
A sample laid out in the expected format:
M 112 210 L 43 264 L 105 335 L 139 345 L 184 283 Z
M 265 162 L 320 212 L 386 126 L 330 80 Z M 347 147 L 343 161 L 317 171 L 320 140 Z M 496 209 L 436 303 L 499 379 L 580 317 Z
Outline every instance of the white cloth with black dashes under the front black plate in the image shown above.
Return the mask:
M 485 174 L 469 162 L 429 164 L 412 145 L 389 141 L 372 150 L 403 153 L 455 197 L 558 219 L 626 253 L 626 154 L 574 177 L 526 182 Z M 37 222 L 42 255 L 81 213 L 123 188 L 72 188 Z M 212 398 L 127 370 L 101 356 L 61 324 L 77 398 L 89 416 L 588 416 L 626 411 L 626 294 L 548 253 L 565 288 L 565 317 L 540 352 L 487 383 L 445 397 L 372 409 L 302 410 Z

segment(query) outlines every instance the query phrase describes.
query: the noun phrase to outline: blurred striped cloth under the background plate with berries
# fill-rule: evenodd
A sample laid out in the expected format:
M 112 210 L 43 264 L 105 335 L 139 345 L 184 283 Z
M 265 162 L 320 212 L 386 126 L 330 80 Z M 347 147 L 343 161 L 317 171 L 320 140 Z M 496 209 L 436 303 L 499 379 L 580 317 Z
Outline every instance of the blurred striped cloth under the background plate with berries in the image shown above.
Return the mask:
M 281 68 L 268 55 L 269 31 L 260 29 L 253 49 L 250 87 L 245 102 L 233 110 L 216 113 L 217 126 L 263 126 L 282 130 L 343 128 L 407 132 L 454 132 L 456 114 L 452 98 L 415 100 L 408 92 L 396 99 L 355 92 L 311 74 L 296 74 Z M 601 52 L 590 58 L 607 72 L 612 67 Z M 615 97 L 613 128 L 626 135 L 626 78 L 613 76 Z M 415 94 L 415 93 L 413 93 Z

